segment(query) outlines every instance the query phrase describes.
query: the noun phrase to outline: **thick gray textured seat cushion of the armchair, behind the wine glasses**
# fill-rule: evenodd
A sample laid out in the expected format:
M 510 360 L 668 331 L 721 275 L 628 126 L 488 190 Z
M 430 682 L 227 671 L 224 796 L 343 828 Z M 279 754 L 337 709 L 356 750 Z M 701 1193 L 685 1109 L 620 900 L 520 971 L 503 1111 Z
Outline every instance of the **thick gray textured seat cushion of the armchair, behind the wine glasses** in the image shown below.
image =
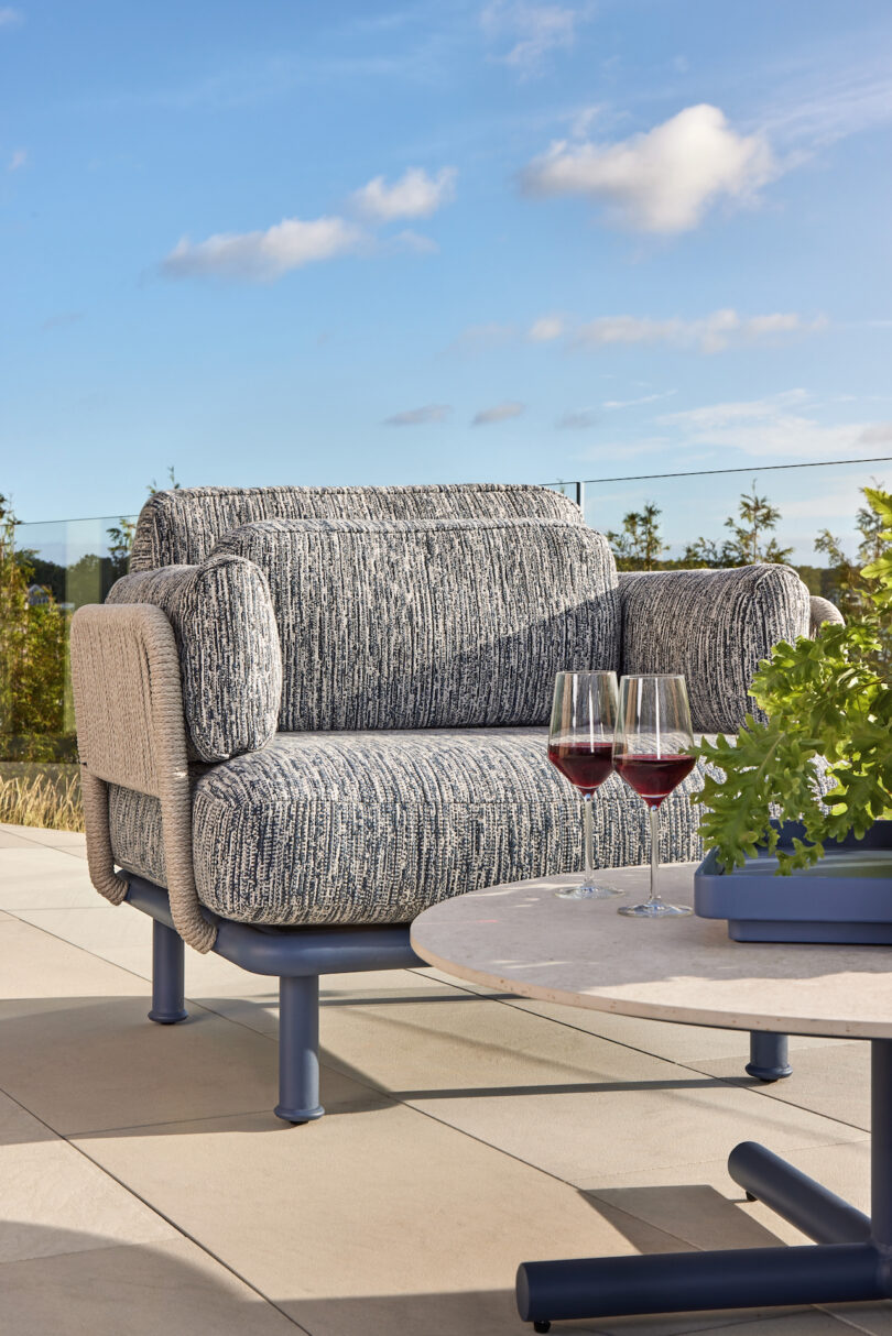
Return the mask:
M 546 741 L 544 728 L 280 733 L 197 771 L 198 894 L 247 923 L 401 923 L 464 891 L 580 868 L 582 800 Z M 699 782 L 663 803 L 666 860 L 701 856 L 687 802 Z M 594 812 L 599 866 L 649 858 L 645 804 L 617 775 Z M 110 819 L 116 862 L 163 886 L 156 799 L 112 787 Z

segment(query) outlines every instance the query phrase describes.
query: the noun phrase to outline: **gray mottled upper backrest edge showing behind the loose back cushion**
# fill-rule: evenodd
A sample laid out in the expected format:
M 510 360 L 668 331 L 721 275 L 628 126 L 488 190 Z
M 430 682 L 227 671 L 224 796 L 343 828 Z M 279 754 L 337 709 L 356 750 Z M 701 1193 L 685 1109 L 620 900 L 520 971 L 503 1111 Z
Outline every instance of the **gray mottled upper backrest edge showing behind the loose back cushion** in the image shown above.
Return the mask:
M 254 520 L 523 518 L 582 524 L 550 488 L 510 482 L 407 488 L 182 488 L 155 492 L 136 521 L 131 570 L 194 565 L 229 529 Z

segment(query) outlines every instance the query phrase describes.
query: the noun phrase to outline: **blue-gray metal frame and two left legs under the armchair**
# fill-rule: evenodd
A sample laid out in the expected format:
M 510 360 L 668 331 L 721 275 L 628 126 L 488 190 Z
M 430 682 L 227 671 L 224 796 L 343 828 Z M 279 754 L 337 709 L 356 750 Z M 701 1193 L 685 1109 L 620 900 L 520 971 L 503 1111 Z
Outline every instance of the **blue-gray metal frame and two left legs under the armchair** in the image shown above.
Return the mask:
M 152 1003 L 148 1019 L 187 1019 L 185 943 L 174 930 L 167 891 L 142 876 L 130 878 L 127 900 L 154 919 Z M 409 946 L 409 926 L 251 927 L 217 921 L 213 950 L 251 974 L 278 975 L 278 1104 L 285 1122 L 313 1122 L 320 1104 L 320 974 L 403 970 L 427 961 Z

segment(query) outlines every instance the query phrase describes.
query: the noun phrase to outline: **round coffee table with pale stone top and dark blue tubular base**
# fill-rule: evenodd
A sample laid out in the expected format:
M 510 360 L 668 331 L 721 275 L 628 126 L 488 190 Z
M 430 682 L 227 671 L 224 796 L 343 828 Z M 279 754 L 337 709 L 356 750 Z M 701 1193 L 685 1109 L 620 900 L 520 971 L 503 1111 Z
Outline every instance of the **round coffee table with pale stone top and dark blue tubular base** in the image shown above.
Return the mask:
M 600 875 L 623 887 L 641 870 Z M 665 876 L 666 894 L 690 902 L 693 864 L 667 867 Z M 547 1331 L 555 1319 L 892 1297 L 892 947 L 732 942 L 721 922 L 629 919 L 615 902 L 555 898 L 567 880 L 445 900 L 416 919 L 412 946 L 459 978 L 547 1002 L 871 1039 L 872 1217 L 746 1141 L 729 1158 L 732 1178 L 817 1246 L 524 1263 L 520 1317 Z

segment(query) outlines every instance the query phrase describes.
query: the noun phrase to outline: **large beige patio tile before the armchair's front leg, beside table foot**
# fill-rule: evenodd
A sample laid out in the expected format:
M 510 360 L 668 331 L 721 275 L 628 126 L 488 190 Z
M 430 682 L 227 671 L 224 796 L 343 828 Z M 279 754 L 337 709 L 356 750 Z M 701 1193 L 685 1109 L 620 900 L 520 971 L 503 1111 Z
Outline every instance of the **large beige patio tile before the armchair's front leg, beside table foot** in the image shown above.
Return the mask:
M 76 1144 L 314 1336 L 516 1333 L 519 1261 L 635 1250 L 575 1189 L 396 1105 Z

